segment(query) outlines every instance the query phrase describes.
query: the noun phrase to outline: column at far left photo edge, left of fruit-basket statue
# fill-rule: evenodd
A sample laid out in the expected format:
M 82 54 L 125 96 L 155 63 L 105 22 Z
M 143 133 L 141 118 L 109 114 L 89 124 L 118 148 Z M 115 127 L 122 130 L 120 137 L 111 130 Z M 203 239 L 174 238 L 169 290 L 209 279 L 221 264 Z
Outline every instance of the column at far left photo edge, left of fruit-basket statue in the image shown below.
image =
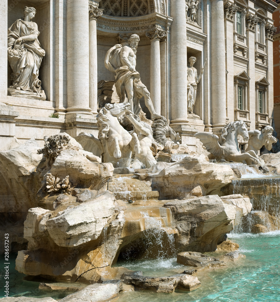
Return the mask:
M 0 3 L 0 105 L 1 100 L 7 96 L 7 29 L 8 29 L 8 2 L 1 1 Z M 11 25 L 11 24 L 10 24 Z

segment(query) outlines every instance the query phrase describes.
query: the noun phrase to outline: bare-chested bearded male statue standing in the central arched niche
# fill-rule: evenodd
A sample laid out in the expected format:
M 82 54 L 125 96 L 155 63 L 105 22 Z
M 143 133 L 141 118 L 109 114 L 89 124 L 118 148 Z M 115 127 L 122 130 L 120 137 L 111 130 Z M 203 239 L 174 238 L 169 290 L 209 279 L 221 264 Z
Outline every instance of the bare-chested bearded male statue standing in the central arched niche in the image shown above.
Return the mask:
M 151 119 L 161 118 L 161 115 L 154 111 L 150 92 L 141 82 L 139 72 L 136 71 L 136 52 L 140 38 L 137 34 L 132 34 L 128 42 L 116 44 L 110 48 L 105 57 L 105 67 L 111 72 L 115 72 L 116 92 L 120 103 L 126 98 L 130 104 L 130 110 L 138 113 L 139 100 L 142 96 L 145 105 L 151 113 Z M 134 102 L 133 102 L 134 101 Z

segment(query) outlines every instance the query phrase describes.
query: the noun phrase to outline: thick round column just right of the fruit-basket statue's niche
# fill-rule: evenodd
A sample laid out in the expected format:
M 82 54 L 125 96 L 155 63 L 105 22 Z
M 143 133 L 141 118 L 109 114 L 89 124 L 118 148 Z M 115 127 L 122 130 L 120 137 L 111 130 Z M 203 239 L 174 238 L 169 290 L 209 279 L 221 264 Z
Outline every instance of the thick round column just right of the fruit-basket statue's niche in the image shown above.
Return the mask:
M 66 114 L 91 114 L 89 108 L 88 2 L 67 1 Z

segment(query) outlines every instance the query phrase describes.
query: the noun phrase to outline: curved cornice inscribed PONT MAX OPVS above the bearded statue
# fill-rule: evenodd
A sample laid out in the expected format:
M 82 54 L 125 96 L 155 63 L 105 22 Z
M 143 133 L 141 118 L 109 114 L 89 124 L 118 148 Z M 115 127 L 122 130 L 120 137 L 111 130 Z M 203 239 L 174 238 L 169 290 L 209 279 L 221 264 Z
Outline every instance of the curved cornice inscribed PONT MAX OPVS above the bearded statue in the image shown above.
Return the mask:
M 108 33 L 129 32 L 145 36 L 149 29 L 158 28 L 170 32 L 173 18 L 159 13 L 139 17 L 113 17 L 102 15 L 97 20 L 97 30 Z

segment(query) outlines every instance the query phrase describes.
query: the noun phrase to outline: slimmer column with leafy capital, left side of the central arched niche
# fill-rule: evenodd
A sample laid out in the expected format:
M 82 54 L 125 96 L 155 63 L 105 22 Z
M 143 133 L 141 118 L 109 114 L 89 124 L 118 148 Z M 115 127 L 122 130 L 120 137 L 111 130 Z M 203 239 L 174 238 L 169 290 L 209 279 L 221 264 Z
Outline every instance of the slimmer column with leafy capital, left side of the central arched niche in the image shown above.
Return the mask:
M 97 114 L 97 37 L 96 19 L 102 15 L 98 3 L 89 2 L 89 107 Z

